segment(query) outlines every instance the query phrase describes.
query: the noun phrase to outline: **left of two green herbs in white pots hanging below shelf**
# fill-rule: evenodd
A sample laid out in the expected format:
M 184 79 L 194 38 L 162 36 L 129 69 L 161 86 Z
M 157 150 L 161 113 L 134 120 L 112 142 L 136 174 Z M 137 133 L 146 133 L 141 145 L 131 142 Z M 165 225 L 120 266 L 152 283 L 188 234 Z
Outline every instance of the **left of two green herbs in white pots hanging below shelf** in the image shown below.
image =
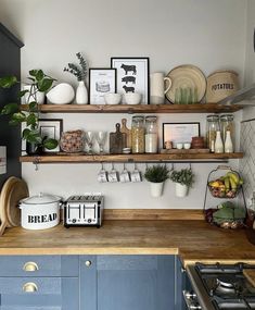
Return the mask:
M 150 182 L 151 196 L 161 197 L 163 194 L 164 183 L 169 178 L 169 170 L 166 165 L 153 165 L 145 170 L 144 177 Z

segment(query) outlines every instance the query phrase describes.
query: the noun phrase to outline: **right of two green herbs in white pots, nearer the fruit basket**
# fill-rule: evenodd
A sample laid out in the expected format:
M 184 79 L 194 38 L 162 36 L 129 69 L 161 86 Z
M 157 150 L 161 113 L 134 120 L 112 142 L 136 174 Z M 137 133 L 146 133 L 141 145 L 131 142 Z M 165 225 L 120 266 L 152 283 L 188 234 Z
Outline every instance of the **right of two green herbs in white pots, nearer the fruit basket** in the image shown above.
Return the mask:
M 191 169 L 173 170 L 170 179 L 176 183 L 176 196 L 182 198 L 188 195 L 194 182 L 194 174 Z

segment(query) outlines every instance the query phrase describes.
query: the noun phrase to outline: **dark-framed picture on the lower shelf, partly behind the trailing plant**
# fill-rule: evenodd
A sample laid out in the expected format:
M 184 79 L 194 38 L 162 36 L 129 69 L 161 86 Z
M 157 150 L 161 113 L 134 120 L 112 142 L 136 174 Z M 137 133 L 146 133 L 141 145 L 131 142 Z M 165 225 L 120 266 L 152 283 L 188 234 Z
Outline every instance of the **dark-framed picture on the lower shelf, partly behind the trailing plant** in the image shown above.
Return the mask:
M 60 140 L 61 133 L 63 132 L 63 120 L 52 119 L 52 120 L 39 120 L 39 131 L 41 136 L 47 136 L 48 138 Z M 44 149 L 46 152 L 59 152 L 60 147 L 58 146 L 53 150 Z

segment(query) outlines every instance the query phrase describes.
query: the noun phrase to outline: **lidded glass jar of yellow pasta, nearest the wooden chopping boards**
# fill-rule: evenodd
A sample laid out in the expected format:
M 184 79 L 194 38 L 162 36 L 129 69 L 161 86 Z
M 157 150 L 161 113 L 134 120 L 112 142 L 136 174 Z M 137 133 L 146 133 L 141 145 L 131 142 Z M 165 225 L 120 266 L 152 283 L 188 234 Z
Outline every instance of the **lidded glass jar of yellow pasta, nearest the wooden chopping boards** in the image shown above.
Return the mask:
M 132 116 L 131 137 L 132 137 L 132 153 L 144 153 L 145 149 L 145 128 L 144 116 Z

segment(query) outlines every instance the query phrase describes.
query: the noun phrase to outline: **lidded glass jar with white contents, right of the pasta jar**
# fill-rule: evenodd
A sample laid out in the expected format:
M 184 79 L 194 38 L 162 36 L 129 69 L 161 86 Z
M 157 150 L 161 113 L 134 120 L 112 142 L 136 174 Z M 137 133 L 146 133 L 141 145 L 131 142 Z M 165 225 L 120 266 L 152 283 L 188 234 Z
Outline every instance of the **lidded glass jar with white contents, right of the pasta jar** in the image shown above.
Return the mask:
M 157 117 L 145 117 L 145 153 L 157 153 Z

